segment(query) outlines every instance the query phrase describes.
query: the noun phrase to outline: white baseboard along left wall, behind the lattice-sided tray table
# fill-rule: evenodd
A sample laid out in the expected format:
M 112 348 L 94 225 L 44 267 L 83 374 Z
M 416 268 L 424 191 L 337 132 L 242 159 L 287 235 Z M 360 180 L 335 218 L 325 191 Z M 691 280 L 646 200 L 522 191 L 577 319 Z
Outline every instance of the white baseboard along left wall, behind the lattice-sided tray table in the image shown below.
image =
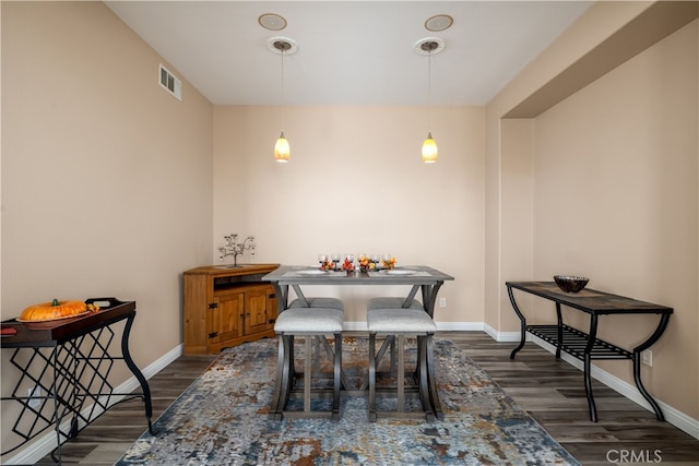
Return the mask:
M 143 377 L 145 377 L 146 380 L 151 379 L 153 375 L 162 371 L 164 368 L 166 368 L 170 362 L 179 358 L 181 355 L 182 355 L 182 345 L 180 344 L 175 348 L 170 349 L 168 353 L 163 355 L 157 360 L 155 360 L 153 363 L 147 366 L 145 369 L 141 370 L 141 372 L 143 373 Z M 139 380 L 135 377 L 131 377 L 126 382 L 116 386 L 114 391 L 115 393 L 128 394 L 139 389 L 140 386 L 141 384 L 139 383 Z M 115 396 L 112 397 L 111 402 L 117 403 L 126 398 L 127 396 L 128 395 Z M 104 402 L 105 403 L 107 402 L 106 397 Z M 81 411 L 81 415 L 84 416 L 85 418 L 90 416 L 92 407 L 93 407 L 93 404 L 90 404 L 87 407 L 83 408 Z M 104 409 L 95 409 L 95 413 L 93 414 L 93 419 L 102 415 L 103 413 L 104 413 Z M 155 419 L 153 419 L 153 421 L 155 421 Z M 82 429 L 83 427 L 84 427 L 84 422 L 81 422 L 79 428 Z M 69 430 L 70 430 L 70 419 L 64 421 L 61 425 L 61 431 L 67 432 Z M 144 430 L 145 430 L 145 426 L 144 426 Z M 51 453 L 51 451 L 55 447 L 56 447 L 56 429 L 51 429 L 47 431 L 47 433 L 45 433 L 44 435 L 38 437 L 32 444 L 27 445 L 25 449 L 20 450 L 20 452 L 15 453 L 12 457 L 9 457 L 7 461 L 3 459 L 2 464 L 33 465 L 37 463 L 39 459 L 42 459 L 44 456 Z

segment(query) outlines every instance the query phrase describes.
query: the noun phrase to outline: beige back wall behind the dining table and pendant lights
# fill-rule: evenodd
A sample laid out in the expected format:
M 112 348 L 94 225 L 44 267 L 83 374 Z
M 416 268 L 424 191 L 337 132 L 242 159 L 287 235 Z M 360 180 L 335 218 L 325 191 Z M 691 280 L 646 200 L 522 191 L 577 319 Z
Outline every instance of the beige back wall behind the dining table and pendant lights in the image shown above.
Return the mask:
M 214 242 L 254 235 L 256 262 L 366 252 L 429 264 L 455 277 L 440 291 L 447 308 L 437 319 L 483 322 L 483 108 L 433 108 L 434 165 L 420 159 L 424 107 L 287 107 L 284 120 L 285 165 L 272 156 L 280 108 L 216 107 Z M 360 324 L 364 299 L 383 291 L 335 290 L 345 320 Z

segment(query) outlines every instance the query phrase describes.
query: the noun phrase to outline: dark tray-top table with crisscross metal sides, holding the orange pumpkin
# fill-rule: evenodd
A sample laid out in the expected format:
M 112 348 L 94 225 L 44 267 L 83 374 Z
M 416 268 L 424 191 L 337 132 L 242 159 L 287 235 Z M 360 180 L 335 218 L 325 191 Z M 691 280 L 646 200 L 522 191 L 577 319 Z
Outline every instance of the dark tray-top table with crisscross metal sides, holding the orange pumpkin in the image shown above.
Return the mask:
M 19 403 L 12 427 L 19 441 L 2 455 L 16 451 L 55 426 L 57 446 L 51 456 L 60 463 L 61 443 L 78 435 L 81 425 L 84 427 L 119 402 L 137 397 L 144 401 L 149 430 L 153 433 L 151 390 L 129 354 L 135 301 L 95 298 L 85 302 L 98 304 L 99 311 L 49 322 L 12 319 L 1 323 L 2 349 L 13 350 L 10 363 L 19 371 L 11 395 L 0 398 Z M 110 354 L 116 337 L 112 325 L 125 320 L 121 356 L 114 356 Z M 142 393 L 115 393 L 109 374 L 115 361 L 120 360 L 138 379 Z M 4 370 L 3 377 L 7 377 Z M 85 402 L 92 402 L 92 406 Z M 70 419 L 68 431 L 61 426 L 64 419 Z

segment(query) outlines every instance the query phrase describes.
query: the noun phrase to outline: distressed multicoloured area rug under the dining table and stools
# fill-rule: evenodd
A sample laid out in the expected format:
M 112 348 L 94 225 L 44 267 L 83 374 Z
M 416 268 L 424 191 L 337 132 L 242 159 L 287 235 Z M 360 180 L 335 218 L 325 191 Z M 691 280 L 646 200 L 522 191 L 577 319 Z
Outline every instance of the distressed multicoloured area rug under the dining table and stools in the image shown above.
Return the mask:
M 367 347 L 343 338 L 343 371 L 357 387 Z M 298 360 L 304 345 L 295 348 Z M 366 396 L 352 392 L 340 421 L 270 420 L 276 358 L 276 339 L 222 353 L 117 465 L 578 465 L 451 340 L 435 340 L 445 411 L 435 422 L 368 422 Z

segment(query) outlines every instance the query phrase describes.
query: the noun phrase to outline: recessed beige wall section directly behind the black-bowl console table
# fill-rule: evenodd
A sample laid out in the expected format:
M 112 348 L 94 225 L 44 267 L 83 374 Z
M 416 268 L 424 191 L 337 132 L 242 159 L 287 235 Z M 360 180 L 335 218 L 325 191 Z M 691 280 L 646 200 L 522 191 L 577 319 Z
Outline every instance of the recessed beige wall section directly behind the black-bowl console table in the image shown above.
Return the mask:
M 695 22 L 540 116 L 534 156 L 534 277 L 580 274 L 595 289 L 673 307 L 644 378 L 695 418 L 697 39 Z M 601 336 L 632 347 L 656 324 L 604 318 Z M 631 380 L 630 365 L 600 366 Z

